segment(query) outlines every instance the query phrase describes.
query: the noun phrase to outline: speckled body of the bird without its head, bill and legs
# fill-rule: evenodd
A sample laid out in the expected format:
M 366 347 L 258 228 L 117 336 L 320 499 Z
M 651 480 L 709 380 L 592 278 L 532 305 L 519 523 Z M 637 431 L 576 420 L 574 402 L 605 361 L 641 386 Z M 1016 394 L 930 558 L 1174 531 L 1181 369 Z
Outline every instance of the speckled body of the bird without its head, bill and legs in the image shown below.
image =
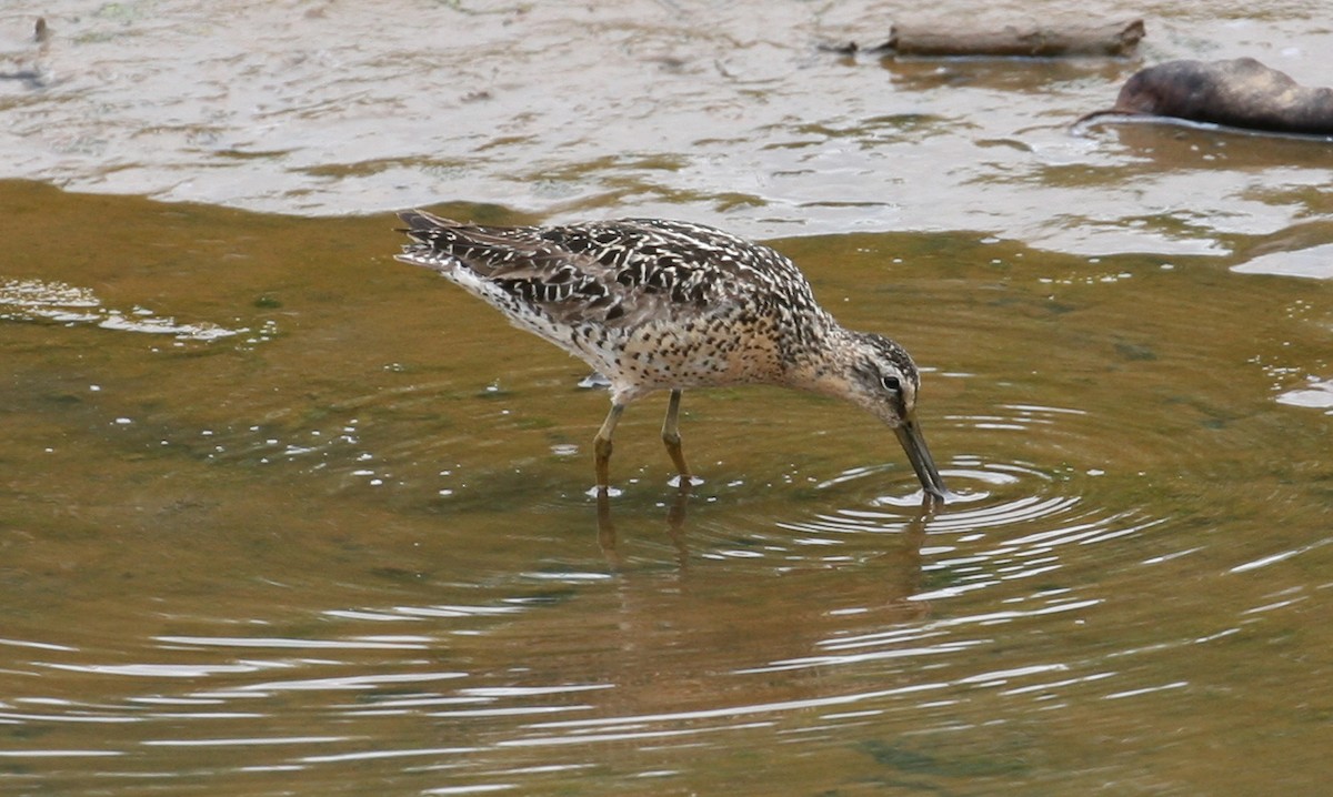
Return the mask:
M 627 398 L 781 381 L 828 315 L 790 260 L 710 227 L 485 227 L 403 213 L 400 260 L 439 271 L 584 359 Z M 800 321 L 798 321 L 800 320 Z

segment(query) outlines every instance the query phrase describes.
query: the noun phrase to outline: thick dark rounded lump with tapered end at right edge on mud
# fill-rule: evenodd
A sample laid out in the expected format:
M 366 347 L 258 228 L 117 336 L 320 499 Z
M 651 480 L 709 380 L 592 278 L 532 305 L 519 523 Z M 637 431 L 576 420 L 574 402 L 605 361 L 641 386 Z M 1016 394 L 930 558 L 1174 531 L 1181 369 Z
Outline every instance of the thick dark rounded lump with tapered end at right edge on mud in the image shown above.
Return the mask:
M 1333 89 L 1306 88 L 1254 59 L 1166 61 L 1125 81 L 1108 115 L 1166 116 L 1265 132 L 1333 135 Z

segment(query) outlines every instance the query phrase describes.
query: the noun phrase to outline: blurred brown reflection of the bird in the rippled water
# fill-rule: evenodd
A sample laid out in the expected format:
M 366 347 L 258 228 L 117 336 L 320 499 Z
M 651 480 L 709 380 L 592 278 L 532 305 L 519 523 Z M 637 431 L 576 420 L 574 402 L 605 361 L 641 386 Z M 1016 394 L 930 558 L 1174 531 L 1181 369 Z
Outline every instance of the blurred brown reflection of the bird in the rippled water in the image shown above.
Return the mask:
M 876 528 L 848 524 L 844 556 L 801 545 L 804 534 L 789 532 L 786 553 L 732 557 L 714 556 L 730 544 L 716 528 L 706 533 L 697 514 L 709 512 L 688 512 L 698 497 L 689 485 L 669 496 L 664 525 L 676 566 L 660 568 L 641 566 L 629 554 L 636 542 L 660 542 L 660 532 L 647 532 L 652 540 L 621 541 L 611 496 L 596 496 L 597 542 L 615 574 L 597 593 L 608 602 L 601 612 L 571 613 L 568 629 L 547 630 L 564 640 L 596 624 L 597 644 L 581 648 L 580 673 L 616 686 L 604 694 L 605 716 L 655 717 L 669 725 L 688 721 L 690 712 L 728 706 L 748 712 L 744 706 L 824 698 L 842 705 L 860 686 L 838 673 L 854 673 L 852 665 L 868 657 L 893 662 L 921 646 L 912 628 L 930 614 L 929 602 L 916 596 L 922 592 L 921 548 L 936 502 L 885 516 Z M 623 522 L 641 528 L 640 512 L 627 509 L 625 517 Z M 885 665 L 876 689 L 918 680 L 914 666 Z

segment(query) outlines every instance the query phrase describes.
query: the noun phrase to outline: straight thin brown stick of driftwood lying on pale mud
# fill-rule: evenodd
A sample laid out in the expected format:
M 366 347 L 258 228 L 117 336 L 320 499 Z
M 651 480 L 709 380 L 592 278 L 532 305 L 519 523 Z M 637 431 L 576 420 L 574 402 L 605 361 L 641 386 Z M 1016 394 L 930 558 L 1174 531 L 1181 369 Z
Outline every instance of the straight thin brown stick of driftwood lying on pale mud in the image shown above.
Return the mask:
M 922 57 L 1124 56 L 1134 51 L 1144 33 L 1144 20 L 1101 24 L 1028 21 L 996 28 L 900 23 L 893 25 L 884 47 L 901 56 Z

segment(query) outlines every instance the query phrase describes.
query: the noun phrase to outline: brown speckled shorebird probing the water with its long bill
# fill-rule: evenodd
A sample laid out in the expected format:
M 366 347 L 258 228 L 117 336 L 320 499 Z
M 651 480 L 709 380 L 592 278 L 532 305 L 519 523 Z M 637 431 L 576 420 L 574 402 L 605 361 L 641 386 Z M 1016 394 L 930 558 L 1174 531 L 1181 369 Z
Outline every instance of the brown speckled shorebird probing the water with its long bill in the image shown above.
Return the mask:
M 689 484 L 681 391 L 757 384 L 868 410 L 897 434 L 925 492 L 946 500 L 916 420 L 921 377 L 906 349 L 840 325 L 773 249 L 661 219 L 483 227 L 424 211 L 399 217 L 413 241 L 399 260 L 440 272 L 611 381 L 611 412 L 593 440 L 600 492 L 609 488 L 611 437 L 631 401 L 670 391 L 663 441 Z

